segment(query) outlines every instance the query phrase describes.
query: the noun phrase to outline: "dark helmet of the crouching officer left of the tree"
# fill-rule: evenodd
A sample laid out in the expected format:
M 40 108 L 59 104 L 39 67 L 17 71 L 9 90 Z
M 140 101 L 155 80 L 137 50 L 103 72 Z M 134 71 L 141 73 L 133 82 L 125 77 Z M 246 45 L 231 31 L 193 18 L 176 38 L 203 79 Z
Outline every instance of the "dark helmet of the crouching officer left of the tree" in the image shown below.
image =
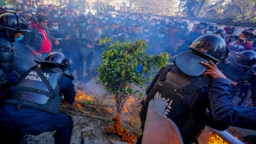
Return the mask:
M 69 60 L 65 57 L 64 54 L 59 52 L 52 52 L 46 56 L 44 61 L 38 62 L 35 60 L 35 62 L 46 67 L 57 66 L 61 69 L 70 68 Z

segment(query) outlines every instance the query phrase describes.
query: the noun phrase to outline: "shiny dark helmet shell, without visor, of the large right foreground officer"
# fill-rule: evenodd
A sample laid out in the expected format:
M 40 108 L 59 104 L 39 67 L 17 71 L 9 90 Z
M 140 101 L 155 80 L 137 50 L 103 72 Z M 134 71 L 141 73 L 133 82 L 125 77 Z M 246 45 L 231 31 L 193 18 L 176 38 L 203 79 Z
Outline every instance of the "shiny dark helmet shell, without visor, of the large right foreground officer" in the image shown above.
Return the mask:
M 229 54 L 224 39 L 212 34 L 202 35 L 188 47 L 215 63 L 224 62 Z

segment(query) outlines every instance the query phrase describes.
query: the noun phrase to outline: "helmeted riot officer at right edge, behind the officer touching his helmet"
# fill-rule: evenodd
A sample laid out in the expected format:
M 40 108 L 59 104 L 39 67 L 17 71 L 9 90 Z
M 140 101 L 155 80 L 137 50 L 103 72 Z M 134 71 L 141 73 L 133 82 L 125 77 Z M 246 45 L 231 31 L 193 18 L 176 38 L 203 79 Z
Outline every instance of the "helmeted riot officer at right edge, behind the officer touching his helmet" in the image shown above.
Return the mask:
M 250 83 L 250 85 L 246 86 L 250 86 L 252 102 L 254 106 L 256 105 L 255 66 L 256 52 L 253 50 L 246 50 L 231 55 L 226 59 L 224 65 L 219 68 L 231 82 L 231 99 L 234 99 L 238 91 L 242 89 L 242 86 Z

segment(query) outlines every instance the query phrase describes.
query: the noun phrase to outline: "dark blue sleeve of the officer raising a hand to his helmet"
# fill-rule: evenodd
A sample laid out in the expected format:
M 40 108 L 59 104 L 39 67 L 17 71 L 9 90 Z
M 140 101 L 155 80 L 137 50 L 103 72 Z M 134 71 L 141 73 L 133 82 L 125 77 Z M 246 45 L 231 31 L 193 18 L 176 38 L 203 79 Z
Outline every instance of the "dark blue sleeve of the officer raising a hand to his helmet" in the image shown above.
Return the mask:
M 230 126 L 256 130 L 256 107 L 235 106 L 231 101 L 230 81 L 215 78 L 209 91 L 210 109 L 214 121 Z

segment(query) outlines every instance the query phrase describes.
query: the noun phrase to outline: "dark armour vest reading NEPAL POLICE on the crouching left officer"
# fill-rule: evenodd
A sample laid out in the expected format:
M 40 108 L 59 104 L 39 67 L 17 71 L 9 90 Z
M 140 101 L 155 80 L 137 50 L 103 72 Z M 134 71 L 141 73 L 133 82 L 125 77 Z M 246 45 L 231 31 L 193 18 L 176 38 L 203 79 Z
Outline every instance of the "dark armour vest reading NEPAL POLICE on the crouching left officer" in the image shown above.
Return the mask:
M 21 110 L 22 106 L 28 106 L 58 114 L 61 102 L 58 82 L 62 74 L 59 68 L 32 67 L 10 87 L 5 103 L 17 105 L 18 110 Z

